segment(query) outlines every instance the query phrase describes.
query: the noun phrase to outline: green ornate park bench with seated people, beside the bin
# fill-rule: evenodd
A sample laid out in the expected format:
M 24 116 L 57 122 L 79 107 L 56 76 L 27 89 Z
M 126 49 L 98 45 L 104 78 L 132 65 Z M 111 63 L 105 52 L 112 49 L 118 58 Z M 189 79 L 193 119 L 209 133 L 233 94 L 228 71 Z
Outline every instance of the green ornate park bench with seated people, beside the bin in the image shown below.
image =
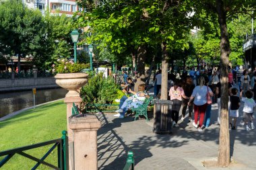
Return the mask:
M 146 98 L 145 102 L 141 105 L 139 105 L 138 108 L 131 108 L 132 112 L 135 112 L 135 118 L 137 119 L 139 116 L 144 116 L 146 120 L 148 121 L 148 105 L 150 105 L 150 102 L 152 101 L 153 97 L 150 96 L 150 98 Z

